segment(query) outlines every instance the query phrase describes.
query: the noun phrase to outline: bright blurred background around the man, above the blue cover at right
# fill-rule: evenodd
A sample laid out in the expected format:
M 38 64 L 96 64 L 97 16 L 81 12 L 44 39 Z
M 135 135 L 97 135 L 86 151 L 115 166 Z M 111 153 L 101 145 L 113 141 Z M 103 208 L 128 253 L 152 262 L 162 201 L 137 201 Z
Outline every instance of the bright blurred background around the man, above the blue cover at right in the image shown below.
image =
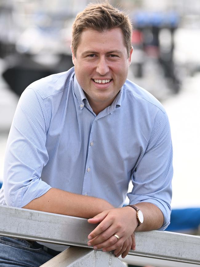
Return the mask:
M 18 99 L 34 80 L 73 66 L 71 25 L 89 2 L 0 1 L 0 182 Z M 127 11 L 133 22 L 128 78 L 161 101 L 169 116 L 174 147 L 172 208 L 200 207 L 200 1 L 110 3 Z

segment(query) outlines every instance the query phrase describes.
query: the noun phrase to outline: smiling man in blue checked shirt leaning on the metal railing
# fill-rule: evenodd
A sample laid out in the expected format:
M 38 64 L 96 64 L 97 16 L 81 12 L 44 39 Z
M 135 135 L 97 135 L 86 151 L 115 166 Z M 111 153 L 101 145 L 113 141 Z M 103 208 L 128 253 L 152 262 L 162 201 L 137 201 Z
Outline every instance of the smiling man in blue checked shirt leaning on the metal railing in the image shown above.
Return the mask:
M 19 100 L 1 191 L 1 204 L 100 223 L 88 245 L 117 257 L 135 249 L 134 231 L 164 230 L 170 221 L 169 122 L 153 96 L 126 80 L 131 33 L 126 14 L 107 2 L 77 15 L 74 68 L 32 83 Z M 134 206 L 122 208 L 130 180 Z M 31 249 L 46 247 L 49 258 L 66 249 Z M 23 261 L 34 257 L 39 266 L 47 254 L 23 253 Z

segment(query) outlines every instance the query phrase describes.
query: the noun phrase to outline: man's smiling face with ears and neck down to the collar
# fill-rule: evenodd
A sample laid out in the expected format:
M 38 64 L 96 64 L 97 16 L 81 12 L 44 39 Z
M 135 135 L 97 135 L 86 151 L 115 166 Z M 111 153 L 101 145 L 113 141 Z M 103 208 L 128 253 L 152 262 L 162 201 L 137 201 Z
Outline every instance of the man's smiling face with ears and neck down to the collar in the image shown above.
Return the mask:
M 72 51 L 75 75 L 93 111 L 98 114 L 110 106 L 128 75 L 131 54 L 122 30 L 82 31 L 76 57 Z

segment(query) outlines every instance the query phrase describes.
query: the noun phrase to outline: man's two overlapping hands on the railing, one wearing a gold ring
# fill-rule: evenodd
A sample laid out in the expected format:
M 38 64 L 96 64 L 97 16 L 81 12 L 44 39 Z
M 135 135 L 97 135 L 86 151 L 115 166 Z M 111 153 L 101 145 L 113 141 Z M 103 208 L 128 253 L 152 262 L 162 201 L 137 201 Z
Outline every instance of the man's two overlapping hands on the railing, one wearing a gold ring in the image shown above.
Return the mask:
M 134 230 L 138 225 L 136 211 L 131 207 L 114 208 L 99 213 L 89 223 L 100 224 L 89 234 L 89 246 L 103 251 L 114 250 L 118 257 L 125 257 L 130 248 L 135 249 Z M 114 234 L 118 235 L 118 240 Z M 132 236 L 131 236 L 132 235 Z

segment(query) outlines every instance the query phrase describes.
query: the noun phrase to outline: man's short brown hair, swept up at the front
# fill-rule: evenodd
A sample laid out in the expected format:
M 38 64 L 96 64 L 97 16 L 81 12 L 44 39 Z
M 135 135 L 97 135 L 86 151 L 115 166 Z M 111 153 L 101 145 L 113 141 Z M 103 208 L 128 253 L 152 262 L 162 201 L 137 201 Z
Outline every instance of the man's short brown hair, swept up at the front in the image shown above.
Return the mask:
M 72 49 L 76 56 L 80 35 L 84 29 L 103 32 L 120 28 L 124 36 L 124 44 L 128 55 L 132 44 L 132 24 L 128 15 L 110 5 L 108 1 L 92 4 L 90 3 L 82 12 L 78 13 L 72 26 Z

